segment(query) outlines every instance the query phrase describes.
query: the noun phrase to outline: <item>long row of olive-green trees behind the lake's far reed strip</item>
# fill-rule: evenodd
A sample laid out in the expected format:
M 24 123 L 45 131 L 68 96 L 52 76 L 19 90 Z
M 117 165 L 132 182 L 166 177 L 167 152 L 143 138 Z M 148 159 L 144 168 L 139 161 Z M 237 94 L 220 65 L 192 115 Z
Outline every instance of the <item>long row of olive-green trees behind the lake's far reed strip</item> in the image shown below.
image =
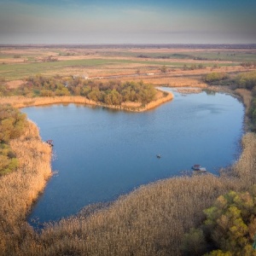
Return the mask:
M 36 76 L 16 89 L 8 89 L 0 85 L 0 96 L 84 96 L 107 105 L 121 105 L 122 102 L 141 102 L 143 105 L 154 100 L 156 90 L 152 84 L 142 82 L 99 81 L 82 78 L 66 78 L 59 76 L 46 78 Z

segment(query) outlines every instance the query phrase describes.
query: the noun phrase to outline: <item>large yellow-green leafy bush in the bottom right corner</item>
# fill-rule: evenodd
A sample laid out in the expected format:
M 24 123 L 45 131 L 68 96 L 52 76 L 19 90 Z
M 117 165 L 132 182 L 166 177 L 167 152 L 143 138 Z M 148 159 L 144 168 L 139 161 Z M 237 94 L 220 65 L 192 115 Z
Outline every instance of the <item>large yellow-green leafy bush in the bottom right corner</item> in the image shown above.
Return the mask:
M 221 195 L 207 215 L 205 229 L 218 250 L 208 255 L 256 255 L 256 185 L 248 192 Z

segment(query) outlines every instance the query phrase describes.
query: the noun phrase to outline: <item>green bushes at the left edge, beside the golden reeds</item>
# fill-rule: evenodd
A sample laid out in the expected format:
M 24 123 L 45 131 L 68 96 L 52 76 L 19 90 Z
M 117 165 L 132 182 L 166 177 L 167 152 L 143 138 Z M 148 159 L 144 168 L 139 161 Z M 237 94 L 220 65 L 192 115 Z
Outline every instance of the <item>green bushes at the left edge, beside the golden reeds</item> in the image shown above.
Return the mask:
M 26 114 L 10 105 L 0 105 L 0 176 L 14 171 L 18 160 L 9 146 L 11 139 L 20 137 L 26 126 Z

